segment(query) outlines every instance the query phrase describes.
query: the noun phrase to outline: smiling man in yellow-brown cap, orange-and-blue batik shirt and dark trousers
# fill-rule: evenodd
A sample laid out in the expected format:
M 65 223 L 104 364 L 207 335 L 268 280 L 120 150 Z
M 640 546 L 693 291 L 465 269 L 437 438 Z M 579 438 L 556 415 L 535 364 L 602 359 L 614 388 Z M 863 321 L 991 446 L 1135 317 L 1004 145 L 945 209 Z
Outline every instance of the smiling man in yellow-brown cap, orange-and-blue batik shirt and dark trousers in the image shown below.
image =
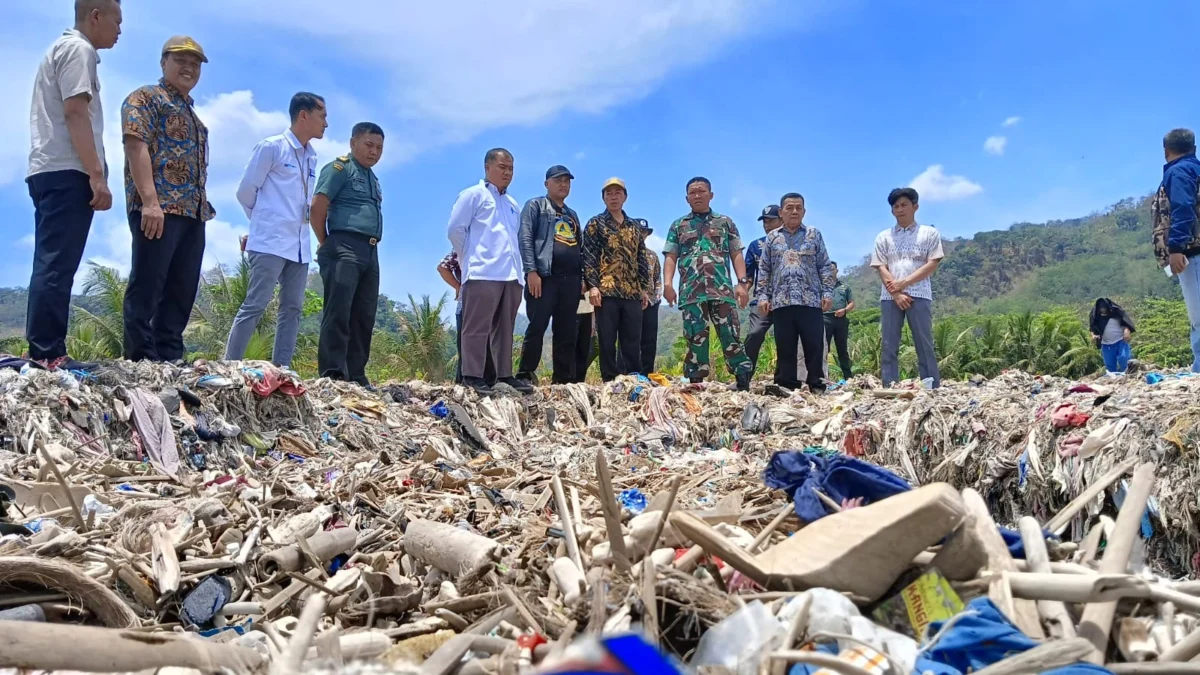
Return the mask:
M 204 49 L 186 36 L 162 47 L 162 79 L 121 104 L 125 204 L 133 263 L 125 292 L 125 358 L 180 362 L 204 261 L 209 130 L 191 92 Z

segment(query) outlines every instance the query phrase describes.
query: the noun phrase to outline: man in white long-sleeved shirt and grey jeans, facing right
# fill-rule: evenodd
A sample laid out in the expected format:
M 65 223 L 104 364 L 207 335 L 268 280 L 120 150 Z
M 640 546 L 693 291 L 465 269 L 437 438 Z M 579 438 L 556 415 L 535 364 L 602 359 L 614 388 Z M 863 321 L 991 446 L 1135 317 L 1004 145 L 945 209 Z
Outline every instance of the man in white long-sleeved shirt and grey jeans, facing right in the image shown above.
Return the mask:
M 238 202 L 250 219 L 244 241 L 250 261 L 250 288 L 229 330 L 226 360 L 240 360 L 258 328 L 266 305 L 280 287 L 271 360 L 288 366 L 295 353 L 308 263 L 311 204 L 317 186 L 317 151 L 313 138 L 323 138 L 325 100 L 301 91 L 288 107 L 292 127 L 254 147 L 238 186 Z

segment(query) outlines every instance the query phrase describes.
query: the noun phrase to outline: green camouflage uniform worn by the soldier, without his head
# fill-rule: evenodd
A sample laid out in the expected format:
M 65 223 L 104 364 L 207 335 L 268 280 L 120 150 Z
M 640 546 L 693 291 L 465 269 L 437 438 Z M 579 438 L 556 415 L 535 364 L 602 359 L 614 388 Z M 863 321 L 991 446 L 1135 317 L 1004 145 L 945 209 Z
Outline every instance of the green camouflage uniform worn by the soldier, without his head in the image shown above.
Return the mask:
M 733 375 L 749 375 L 752 364 L 742 348 L 737 301 L 730 261 L 742 250 L 738 227 L 728 216 L 715 211 L 691 213 L 671 223 L 662 252 L 678 258 L 679 309 L 688 356 L 683 371 L 689 380 L 709 375 L 708 324 L 725 351 L 725 363 Z

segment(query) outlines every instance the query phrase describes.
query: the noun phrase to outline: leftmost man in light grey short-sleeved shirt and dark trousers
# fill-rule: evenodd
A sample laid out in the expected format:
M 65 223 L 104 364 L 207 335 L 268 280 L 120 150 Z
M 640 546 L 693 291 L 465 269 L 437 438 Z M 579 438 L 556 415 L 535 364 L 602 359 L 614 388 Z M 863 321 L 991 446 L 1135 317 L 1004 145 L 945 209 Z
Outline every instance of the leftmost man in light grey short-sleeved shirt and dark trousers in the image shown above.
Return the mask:
M 121 35 L 120 0 L 76 0 L 74 8 L 74 28 L 50 46 L 34 80 L 26 178 L 35 223 L 25 317 L 29 358 L 68 370 L 88 366 L 67 357 L 71 287 L 95 211 L 113 205 L 98 50 L 112 49 Z

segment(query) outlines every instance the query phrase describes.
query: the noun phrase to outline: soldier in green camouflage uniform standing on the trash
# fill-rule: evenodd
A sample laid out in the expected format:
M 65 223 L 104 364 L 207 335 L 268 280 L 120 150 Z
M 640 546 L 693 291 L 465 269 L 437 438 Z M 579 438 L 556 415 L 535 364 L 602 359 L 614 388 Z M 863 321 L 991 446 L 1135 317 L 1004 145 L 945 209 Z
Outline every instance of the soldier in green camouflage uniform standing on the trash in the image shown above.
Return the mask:
M 683 331 L 688 339 L 684 376 L 692 382 L 708 377 L 708 323 L 712 322 L 725 351 L 725 363 L 737 377 L 738 389 L 744 392 L 750 388 L 752 365 L 742 348 L 738 306 L 745 307 L 749 303 L 749 280 L 738 227 L 728 216 L 713 211 L 712 201 L 713 189 L 707 178 L 688 181 L 691 213 L 671 223 L 667 233 L 662 250 L 666 258 L 662 297 L 672 306 L 678 300 L 683 311 Z M 730 279 L 730 262 L 738 276 L 737 285 Z M 672 285 L 677 264 L 680 294 Z

